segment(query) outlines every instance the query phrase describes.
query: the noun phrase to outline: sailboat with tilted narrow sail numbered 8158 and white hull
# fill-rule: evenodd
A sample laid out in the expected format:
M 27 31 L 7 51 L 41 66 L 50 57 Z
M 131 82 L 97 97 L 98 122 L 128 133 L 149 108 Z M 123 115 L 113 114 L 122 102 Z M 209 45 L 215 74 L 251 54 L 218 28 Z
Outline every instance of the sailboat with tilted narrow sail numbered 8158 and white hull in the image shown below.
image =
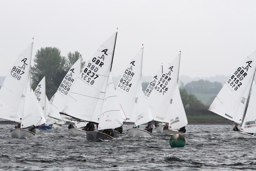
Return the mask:
M 56 121 L 49 121 L 47 124 L 53 124 L 53 127 L 61 127 L 60 125 L 65 124 L 66 121 L 70 121 L 70 117 L 65 117 L 60 115 L 60 111 L 63 110 L 65 103 L 67 102 L 68 95 L 76 82 L 81 68 L 81 58 L 79 58 L 71 68 L 69 68 L 68 73 L 63 78 L 57 92 L 52 96 L 50 100 L 50 110 L 48 116 L 56 119 Z M 68 130 L 68 133 L 80 135 L 85 132 L 81 129 Z

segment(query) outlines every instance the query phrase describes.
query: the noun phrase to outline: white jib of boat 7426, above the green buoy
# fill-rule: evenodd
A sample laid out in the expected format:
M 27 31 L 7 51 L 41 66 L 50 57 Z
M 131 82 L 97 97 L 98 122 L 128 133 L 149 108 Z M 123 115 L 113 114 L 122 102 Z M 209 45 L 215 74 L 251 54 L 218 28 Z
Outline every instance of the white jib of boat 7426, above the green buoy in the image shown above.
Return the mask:
M 167 112 L 167 115 L 170 115 L 169 128 L 178 129 L 188 124 L 178 84 L 173 92 L 171 101 L 170 112 Z

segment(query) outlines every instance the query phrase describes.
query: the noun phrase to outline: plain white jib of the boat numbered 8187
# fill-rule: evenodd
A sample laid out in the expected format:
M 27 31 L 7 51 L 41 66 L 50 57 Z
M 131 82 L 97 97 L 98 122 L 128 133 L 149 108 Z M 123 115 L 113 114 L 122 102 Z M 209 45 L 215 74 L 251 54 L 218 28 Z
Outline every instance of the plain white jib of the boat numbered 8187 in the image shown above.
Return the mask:
M 36 96 L 31 91 L 30 74 L 28 78 L 27 90 L 24 105 L 24 114 L 22 116 L 21 128 L 26 128 L 31 125 L 42 125 L 45 123 L 44 113 L 40 104 L 38 103 Z

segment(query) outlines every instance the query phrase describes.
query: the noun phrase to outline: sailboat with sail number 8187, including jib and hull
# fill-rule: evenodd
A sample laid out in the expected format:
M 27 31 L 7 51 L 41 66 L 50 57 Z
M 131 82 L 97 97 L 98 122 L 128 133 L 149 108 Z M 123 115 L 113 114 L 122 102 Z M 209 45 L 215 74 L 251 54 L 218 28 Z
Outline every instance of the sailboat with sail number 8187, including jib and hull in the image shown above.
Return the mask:
M 11 130 L 13 138 L 33 137 L 35 133 L 28 131 L 28 127 L 45 123 L 40 105 L 31 92 L 32 48 L 33 43 L 19 55 L 0 90 L 0 118 L 21 123 L 20 128 Z

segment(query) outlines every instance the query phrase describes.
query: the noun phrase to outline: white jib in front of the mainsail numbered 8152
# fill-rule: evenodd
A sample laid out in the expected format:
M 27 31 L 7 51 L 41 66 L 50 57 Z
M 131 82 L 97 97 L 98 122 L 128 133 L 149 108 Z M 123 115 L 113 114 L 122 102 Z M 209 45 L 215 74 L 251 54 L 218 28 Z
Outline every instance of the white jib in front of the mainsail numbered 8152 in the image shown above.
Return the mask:
M 256 85 L 252 82 L 251 96 L 241 131 L 256 133 Z

